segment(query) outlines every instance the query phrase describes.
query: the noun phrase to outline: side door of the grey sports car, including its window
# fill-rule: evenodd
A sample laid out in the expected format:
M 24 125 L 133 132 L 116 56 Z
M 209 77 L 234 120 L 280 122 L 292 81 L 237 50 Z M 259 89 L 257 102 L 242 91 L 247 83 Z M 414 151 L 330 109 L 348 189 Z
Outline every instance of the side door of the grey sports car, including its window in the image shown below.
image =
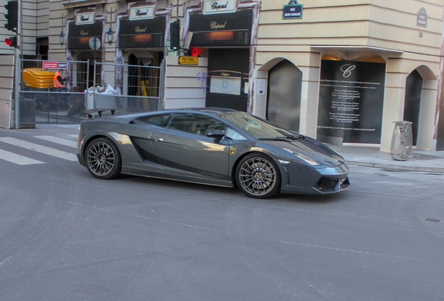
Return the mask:
M 165 128 L 151 134 L 151 141 L 165 171 L 186 176 L 228 179 L 229 145 L 214 143 L 208 130 L 225 130 L 225 125 L 200 114 L 173 114 Z

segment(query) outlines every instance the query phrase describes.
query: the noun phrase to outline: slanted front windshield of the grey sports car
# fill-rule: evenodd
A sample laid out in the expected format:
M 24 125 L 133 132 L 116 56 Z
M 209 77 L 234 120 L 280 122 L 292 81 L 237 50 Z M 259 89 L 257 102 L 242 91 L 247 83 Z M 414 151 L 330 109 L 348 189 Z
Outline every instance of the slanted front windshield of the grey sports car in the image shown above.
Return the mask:
M 219 115 L 221 118 L 224 118 L 226 121 L 237 125 L 238 128 L 241 128 L 245 132 L 251 134 L 251 136 L 260 140 L 267 139 L 303 139 L 304 137 L 299 134 L 293 134 L 288 130 L 284 130 L 283 128 L 278 128 L 276 125 L 272 125 L 271 123 L 267 123 L 267 121 L 263 121 L 260 118 L 255 116 L 251 116 L 242 111 L 235 111 L 230 113 L 225 113 Z

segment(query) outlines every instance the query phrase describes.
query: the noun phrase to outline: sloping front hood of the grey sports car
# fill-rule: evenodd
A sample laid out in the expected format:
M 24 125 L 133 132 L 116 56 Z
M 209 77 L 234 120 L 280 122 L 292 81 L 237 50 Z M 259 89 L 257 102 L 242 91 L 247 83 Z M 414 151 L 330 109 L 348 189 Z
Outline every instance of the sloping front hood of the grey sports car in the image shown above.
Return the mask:
M 287 148 L 295 154 L 302 154 L 316 160 L 324 167 L 336 167 L 345 162 L 343 157 L 332 148 L 310 137 L 305 137 L 300 141 L 267 141 L 267 144 L 278 148 Z

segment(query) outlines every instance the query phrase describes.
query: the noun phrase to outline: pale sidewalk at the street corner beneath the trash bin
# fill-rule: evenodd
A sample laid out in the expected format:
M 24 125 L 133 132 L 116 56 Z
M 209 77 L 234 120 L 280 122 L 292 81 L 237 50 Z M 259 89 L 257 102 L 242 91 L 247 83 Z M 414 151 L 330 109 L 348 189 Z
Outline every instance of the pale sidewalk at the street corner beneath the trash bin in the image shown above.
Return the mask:
M 444 151 L 413 149 L 406 161 L 393 160 L 390 153 L 379 151 L 379 146 L 336 146 L 327 144 L 346 159 L 348 165 L 444 173 Z

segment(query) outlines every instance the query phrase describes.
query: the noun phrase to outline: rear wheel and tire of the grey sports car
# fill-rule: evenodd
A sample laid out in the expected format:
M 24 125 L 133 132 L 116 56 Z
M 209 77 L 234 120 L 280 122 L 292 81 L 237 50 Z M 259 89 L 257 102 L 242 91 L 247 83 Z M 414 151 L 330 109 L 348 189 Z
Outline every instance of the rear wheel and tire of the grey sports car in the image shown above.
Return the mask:
M 102 180 L 116 178 L 121 170 L 119 150 L 108 138 L 98 138 L 88 144 L 85 162 L 91 175 Z

